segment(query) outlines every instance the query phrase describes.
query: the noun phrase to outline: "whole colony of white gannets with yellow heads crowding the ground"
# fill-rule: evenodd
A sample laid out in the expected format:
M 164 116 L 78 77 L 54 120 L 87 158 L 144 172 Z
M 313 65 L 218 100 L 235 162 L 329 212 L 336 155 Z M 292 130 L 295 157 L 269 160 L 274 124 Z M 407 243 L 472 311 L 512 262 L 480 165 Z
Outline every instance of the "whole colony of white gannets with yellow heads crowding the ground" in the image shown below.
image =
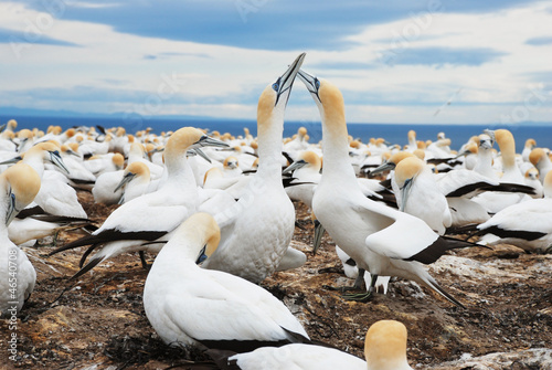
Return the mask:
M 35 267 L 77 253 L 76 272 L 59 279 L 75 289 L 96 284 L 93 277 L 106 269 L 120 273 L 119 258 L 130 254 L 144 268 L 125 277 L 141 279 L 137 316 L 167 348 L 199 351 L 201 369 L 411 369 L 407 348 L 415 345 L 401 317 L 371 317 L 362 337 L 338 348 L 331 336 L 314 339 L 300 304 L 278 299 L 264 284 L 275 276 L 290 283 L 286 274 L 311 263 L 322 241 L 331 241 L 325 253 L 340 268 L 333 281 L 341 284 L 325 287 L 318 300 L 335 297 L 338 306 L 368 310 L 403 284 L 406 294 L 383 302 L 422 295 L 461 315 L 473 309 L 469 294 L 443 287 L 435 276 L 444 269 L 470 274 L 470 260 L 457 253 L 488 254 L 509 244 L 550 262 L 549 149 L 528 140 L 517 154 L 507 129 L 475 133 L 458 151 L 444 134 L 425 142 L 410 131 L 404 146 L 361 142 L 348 135 L 339 87 L 302 70 L 305 56 L 261 92 L 256 137 L 247 129 L 233 137 L 195 127 L 160 135 L 50 127 L 44 134 L 8 121 L 0 134 L 0 308 L 7 327 L 22 330 L 38 319 L 29 306 L 47 313 L 61 299 L 33 303 L 41 283 Z M 321 142 L 309 142 L 302 127 L 283 137 L 296 80 L 319 109 Z M 110 210 L 102 222 L 83 209 L 83 193 Z M 294 240 L 307 224 L 311 246 Z M 486 284 L 485 274 L 479 283 Z M 76 299 L 65 305 L 83 309 Z M 23 339 L 15 329 L 3 332 L 9 340 L 2 350 L 17 366 Z M 78 327 L 67 335 L 78 336 Z M 347 350 L 353 341 L 362 342 L 363 357 Z

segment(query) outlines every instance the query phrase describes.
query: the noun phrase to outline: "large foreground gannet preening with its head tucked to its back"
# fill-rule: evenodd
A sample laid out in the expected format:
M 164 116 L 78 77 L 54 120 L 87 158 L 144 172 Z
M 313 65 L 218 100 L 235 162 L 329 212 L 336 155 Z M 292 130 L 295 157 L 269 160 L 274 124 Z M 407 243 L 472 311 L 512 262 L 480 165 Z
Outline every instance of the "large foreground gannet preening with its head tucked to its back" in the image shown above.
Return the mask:
M 171 346 L 199 346 L 245 352 L 264 346 L 308 342 L 287 307 L 241 277 L 199 267 L 221 239 L 203 212 L 180 225 L 157 255 L 144 287 L 146 316 Z

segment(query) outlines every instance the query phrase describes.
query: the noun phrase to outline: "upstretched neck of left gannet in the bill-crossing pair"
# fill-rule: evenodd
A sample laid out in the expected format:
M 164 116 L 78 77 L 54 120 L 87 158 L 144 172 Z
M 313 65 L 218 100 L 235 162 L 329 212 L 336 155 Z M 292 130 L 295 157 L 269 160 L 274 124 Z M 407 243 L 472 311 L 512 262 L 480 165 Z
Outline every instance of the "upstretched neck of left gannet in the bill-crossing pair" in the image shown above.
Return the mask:
M 284 134 L 285 105 L 274 105 L 276 92 L 267 86 L 257 105 L 257 173 L 280 181 L 282 136 Z

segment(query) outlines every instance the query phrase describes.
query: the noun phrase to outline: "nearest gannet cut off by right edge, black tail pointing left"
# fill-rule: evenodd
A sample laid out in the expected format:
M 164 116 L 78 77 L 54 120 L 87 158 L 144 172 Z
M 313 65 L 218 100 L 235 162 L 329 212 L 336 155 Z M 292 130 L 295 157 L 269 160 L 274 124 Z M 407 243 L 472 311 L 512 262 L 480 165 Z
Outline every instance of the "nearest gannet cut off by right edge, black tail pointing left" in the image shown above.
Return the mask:
M 477 225 L 475 235 L 485 235 L 482 243 L 517 245 L 527 252 L 552 252 L 552 172 L 543 184 L 544 198 L 516 203 Z M 490 237 L 492 234 L 496 237 Z

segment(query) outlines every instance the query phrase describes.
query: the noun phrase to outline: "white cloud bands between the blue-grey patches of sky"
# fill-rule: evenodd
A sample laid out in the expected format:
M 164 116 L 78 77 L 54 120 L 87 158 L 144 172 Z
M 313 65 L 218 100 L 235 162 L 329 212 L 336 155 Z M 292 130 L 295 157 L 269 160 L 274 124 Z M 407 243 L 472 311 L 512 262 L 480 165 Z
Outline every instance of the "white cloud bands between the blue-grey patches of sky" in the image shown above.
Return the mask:
M 96 2 L 78 4 L 100 6 Z M 543 83 L 541 87 L 546 97 L 531 109 L 529 119 L 550 120 L 552 96 L 545 91 L 550 81 L 531 80 L 531 74 L 544 76 L 546 71 L 550 72 L 550 47 L 526 43 L 529 39 L 550 36 L 552 13 L 545 11 L 546 7 L 548 3 L 542 2 L 482 14 L 427 12 L 369 25 L 348 39 L 355 44 L 352 49 L 339 52 L 307 50 L 304 66 L 343 89 L 347 117 L 351 121 L 496 121 L 516 107 L 523 107 L 524 99 L 538 83 Z M 169 98 L 163 98 L 163 114 L 253 119 L 256 115 L 255 92 L 272 83 L 300 52 L 144 38 L 116 32 L 108 25 L 65 20 L 63 14 L 60 19 L 49 18 L 46 12 L 30 10 L 17 2 L 0 3 L 0 24 L 8 30 L 28 32 L 39 40 L 47 36 L 78 45 L 20 44 L 18 57 L 14 45 L 0 44 L 0 68 L 10 71 L 2 73 L 0 93 L 3 95 L 9 91 L 38 88 L 92 86 L 110 89 L 124 86 L 151 92 L 155 96 L 169 78 L 179 86 L 172 91 L 174 96 L 198 102 L 210 98 L 204 104 L 172 104 Z M 502 55 L 479 65 L 438 66 L 429 63 L 388 65 L 378 59 L 378 52 L 390 49 L 402 54 L 431 47 L 489 50 Z M 339 63 L 349 63 L 353 67 L 331 67 Z M 363 64 L 365 68 L 359 67 Z M 114 81 L 118 83 L 114 84 Z M 460 87 L 461 94 L 434 118 L 433 113 Z M 308 98 L 301 99 L 301 104 L 293 102 L 299 94 L 297 91 L 304 89 L 302 85 L 297 82 L 294 89 L 287 118 L 312 119 L 318 112 Z M 354 95 L 355 101 L 348 103 L 349 95 Z M 364 95 L 365 101 L 360 98 Z M 120 102 L 49 106 L 54 103 L 29 98 L 19 102 L 4 99 L 3 104 L 95 113 L 132 108 L 132 104 Z M 145 104 L 136 102 L 134 106 Z

